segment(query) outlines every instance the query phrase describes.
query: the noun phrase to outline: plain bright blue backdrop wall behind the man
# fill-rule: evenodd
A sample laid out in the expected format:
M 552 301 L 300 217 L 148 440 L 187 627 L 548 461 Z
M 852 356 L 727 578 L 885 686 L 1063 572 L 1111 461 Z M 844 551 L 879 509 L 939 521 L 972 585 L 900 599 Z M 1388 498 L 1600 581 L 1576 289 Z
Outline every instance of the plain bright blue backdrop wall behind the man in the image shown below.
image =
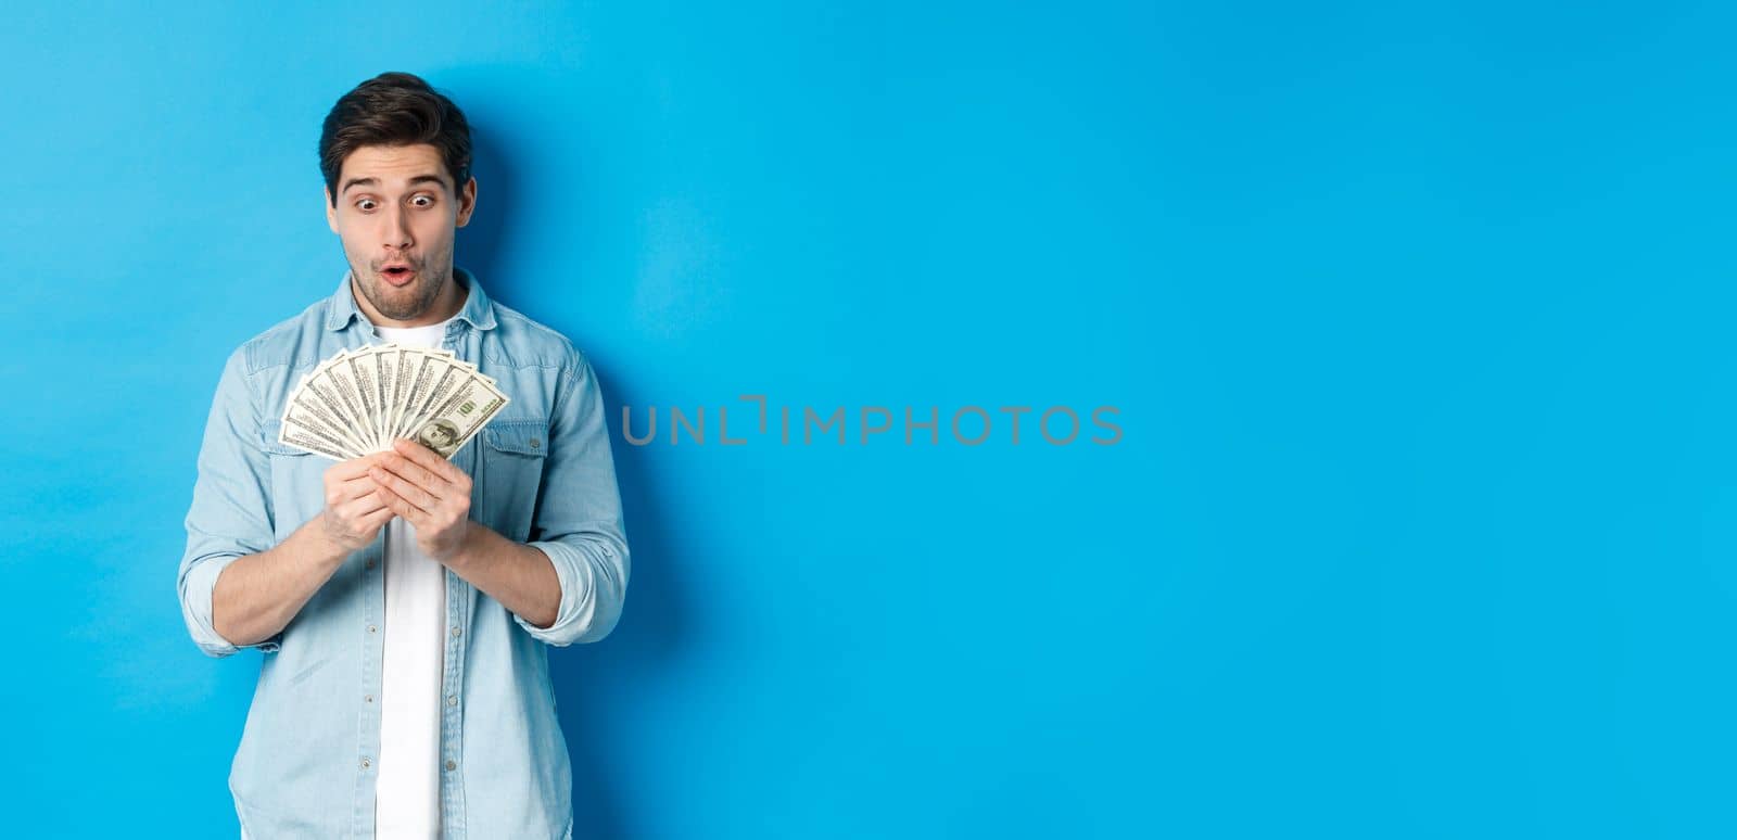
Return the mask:
M 5 833 L 234 837 L 181 519 L 384 69 L 611 406 L 584 837 L 1737 833 L 1737 17 L 1197 5 L 3 12 Z M 740 394 L 1124 436 L 622 441 Z

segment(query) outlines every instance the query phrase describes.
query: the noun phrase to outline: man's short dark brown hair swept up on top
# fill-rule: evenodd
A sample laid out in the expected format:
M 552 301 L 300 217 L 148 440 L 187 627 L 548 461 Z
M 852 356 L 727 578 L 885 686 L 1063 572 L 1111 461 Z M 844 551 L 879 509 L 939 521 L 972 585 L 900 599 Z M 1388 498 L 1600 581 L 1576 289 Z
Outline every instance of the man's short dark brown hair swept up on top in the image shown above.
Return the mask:
M 337 175 L 344 158 L 363 146 L 439 149 L 455 191 L 471 180 L 471 123 L 452 99 L 410 73 L 380 73 L 332 106 L 320 128 L 320 174 L 337 207 Z

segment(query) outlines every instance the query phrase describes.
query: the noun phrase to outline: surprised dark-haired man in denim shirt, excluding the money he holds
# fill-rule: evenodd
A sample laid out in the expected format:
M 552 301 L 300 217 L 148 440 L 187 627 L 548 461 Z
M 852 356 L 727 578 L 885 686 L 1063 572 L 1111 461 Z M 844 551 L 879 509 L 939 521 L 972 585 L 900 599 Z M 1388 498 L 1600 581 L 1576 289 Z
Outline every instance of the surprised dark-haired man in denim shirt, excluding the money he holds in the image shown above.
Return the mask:
M 453 266 L 476 179 L 446 97 L 363 82 L 320 160 L 349 271 L 229 356 L 177 576 L 201 651 L 264 651 L 229 771 L 241 835 L 570 837 L 545 646 L 608 635 L 629 573 L 596 373 Z M 278 443 L 302 373 L 386 340 L 452 351 L 511 403 L 450 462 Z

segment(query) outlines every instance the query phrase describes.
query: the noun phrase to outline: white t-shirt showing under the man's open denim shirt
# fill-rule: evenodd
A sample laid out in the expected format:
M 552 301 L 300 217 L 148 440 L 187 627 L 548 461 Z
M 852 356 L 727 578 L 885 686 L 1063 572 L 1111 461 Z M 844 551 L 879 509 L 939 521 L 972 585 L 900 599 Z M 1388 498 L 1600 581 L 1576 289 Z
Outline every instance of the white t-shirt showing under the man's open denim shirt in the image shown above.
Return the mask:
M 375 326 L 380 338 L 439 347 L 446 323 Z M 380 663 L 379 840 L 439 838 L 439 715 L 446 653 L 446 568 L 417 548 L 401 517 L 386 524 L 386 651 Z

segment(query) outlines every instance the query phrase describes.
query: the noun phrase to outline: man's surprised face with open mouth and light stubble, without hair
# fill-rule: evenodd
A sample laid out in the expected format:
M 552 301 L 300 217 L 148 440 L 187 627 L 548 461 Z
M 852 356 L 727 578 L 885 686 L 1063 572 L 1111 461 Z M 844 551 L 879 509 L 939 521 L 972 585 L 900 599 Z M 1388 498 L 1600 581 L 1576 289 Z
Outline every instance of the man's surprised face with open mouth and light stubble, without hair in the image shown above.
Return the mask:
M 363 146 L 337 177 L 337 207 L 327 189 L 327 224 L 367 304 L 400 326 L 434 323 L 452 281 L 452 243 L 476 208 L 476 179 L 453 189 L 439 149 Z

